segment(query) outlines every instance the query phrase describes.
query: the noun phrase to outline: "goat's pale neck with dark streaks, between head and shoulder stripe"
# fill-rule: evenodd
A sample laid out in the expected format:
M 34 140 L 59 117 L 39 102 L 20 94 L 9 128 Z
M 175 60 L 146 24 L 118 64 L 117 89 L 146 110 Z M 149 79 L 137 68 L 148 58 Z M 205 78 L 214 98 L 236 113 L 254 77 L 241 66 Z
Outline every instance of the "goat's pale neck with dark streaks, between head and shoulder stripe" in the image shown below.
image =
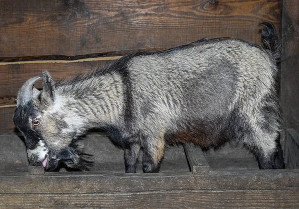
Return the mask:
M 69 127 L 87 130 L 114 125 L 123 112 L 124 84 L 120 75 L 103 75 L 58 85 L 54 109 Z

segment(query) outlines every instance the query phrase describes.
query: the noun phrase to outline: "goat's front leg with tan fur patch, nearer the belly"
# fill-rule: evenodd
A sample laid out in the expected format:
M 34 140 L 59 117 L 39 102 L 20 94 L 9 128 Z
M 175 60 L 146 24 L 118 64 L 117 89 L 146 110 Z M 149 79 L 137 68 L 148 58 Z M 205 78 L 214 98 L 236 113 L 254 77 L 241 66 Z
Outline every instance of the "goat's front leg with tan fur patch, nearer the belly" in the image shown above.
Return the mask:
M 159 172 L 160 162 L 164 155 L 165 142 L 163 138 L 145 140 L 143 143 L 143 170 L 145 173 Z

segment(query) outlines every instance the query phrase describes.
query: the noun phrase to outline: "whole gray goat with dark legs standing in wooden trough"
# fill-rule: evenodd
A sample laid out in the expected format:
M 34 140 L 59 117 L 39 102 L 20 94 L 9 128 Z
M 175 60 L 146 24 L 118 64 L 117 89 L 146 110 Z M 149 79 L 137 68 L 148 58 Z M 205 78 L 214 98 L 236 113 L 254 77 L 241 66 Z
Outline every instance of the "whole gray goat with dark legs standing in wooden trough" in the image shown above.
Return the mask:
M 42 91 L 27 80 L 17 95 L 14 124 L 29 161 L 54 170 L 61 161 L 88 170 L 82 136 L 102 128 L 124 149 L 127 173 L 158 172 L 168 143 L 202 148 L 242 141 L 261 169 L 282 169 L 276 78 L 280 43 L 263 22 L 262 47 L 230 38 L 126 55 L 85 75 L 54 84 L 42 72 Z

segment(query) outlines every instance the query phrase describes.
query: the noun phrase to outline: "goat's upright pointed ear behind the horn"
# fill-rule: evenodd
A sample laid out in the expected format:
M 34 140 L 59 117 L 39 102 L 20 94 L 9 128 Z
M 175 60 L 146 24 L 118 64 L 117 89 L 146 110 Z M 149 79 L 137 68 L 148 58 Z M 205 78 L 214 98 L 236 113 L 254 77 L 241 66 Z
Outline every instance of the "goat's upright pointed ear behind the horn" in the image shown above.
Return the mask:
M 55 101 L 55 85 L 54 81 L 47 70 L 42 71 L 42 98 L 46 100 L 48 104 L 52 104 Z

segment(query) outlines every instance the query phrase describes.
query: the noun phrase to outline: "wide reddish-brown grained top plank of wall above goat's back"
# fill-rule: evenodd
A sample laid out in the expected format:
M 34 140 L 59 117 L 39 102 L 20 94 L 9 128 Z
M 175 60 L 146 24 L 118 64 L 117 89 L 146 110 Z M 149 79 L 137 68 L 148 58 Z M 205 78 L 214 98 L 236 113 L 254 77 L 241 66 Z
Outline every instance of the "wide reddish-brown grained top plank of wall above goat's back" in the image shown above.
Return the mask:
M 280 28 L 280 6 L 281 0 L 1 0 L 0 57 L 161 49 L 219 36 L 260 43 L 258 24 Z

